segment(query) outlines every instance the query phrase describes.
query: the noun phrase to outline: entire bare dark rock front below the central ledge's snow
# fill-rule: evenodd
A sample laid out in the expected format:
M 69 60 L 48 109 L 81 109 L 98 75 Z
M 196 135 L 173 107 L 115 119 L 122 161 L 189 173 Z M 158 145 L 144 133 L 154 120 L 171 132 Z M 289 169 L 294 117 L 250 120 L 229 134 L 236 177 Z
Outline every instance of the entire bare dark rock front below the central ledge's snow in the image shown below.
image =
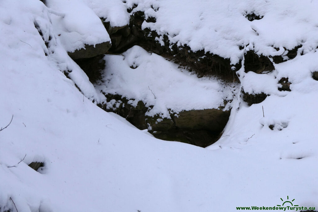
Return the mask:
M 106 94 L 106 97 L 109 101 L 99 104 L 105 111 L 121 115 L 139 129 L 148 128 L 158 139 L 199 147 L 207 147 L 217 141 L 230 116 L 230 111 L 205 109 L 171 113 L 171 119 L 162 119 L 159 115 L 145 115 L 149 108 L 142 101 L 134 107 L 128 104 L 129 99 L 120 95 Z

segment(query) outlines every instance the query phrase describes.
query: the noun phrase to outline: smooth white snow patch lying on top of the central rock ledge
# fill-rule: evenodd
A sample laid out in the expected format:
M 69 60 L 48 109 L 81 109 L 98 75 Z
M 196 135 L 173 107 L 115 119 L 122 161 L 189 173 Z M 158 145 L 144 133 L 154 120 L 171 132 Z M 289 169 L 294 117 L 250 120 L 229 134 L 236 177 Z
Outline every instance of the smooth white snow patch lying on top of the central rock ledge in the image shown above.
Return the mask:
M 134 46 L 122 55 L 105 55 L 106 68 L 96 89 L 120 94 L 136 106 L 142 100 L 154 106 L 146 115 L 160 114 L 170 118 L 169 110 L 202 110 L 218 108 L 224 100 L 232 101 L 239 89 L 237 84 L 222 83 L 215 78 L 198 78 L 195 73 L 169 62 L 155 53 Z M 199 95 L 198 95 L 199 94 Z M 226 104 L 229 110 L 232 104 Z

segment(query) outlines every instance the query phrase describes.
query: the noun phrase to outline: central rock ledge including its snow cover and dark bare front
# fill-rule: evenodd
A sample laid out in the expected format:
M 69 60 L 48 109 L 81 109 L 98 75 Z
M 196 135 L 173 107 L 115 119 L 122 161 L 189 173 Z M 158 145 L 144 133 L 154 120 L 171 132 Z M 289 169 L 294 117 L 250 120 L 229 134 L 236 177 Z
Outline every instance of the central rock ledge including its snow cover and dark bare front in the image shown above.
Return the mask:
M 106 55 L 95 84 L 106 96 L 98 105 L 155 137 L 206 147 L 225 127 L 239 84 L 198 78 L 142 47 Z

